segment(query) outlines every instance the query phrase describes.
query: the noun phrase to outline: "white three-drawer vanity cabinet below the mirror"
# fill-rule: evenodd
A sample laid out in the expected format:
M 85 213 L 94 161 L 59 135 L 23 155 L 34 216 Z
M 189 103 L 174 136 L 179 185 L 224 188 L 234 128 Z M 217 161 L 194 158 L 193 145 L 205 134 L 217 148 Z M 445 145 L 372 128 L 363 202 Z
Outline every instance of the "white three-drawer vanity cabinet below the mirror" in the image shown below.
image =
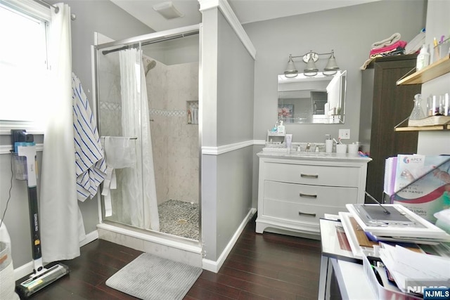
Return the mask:
M 324 214 L 347 211 L 347 203 L 364 203 L 371 158 L 313 152 L 257 155 L 257 233 L 319 235 L 319 219 Z

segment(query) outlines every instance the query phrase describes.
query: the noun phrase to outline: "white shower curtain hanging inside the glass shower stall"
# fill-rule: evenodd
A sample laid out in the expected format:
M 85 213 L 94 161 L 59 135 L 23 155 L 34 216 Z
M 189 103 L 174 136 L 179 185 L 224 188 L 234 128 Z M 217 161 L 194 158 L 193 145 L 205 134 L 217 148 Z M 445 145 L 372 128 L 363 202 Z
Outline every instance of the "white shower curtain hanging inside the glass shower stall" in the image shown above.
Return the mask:
M 120 51 L 120 87 L 122 135 L 137 137 L 137 164 L 123 169 L 123 209 L 129 210 L 131 225 L 159 231 L 150 112 L 141 50 Z M 127 215 L 127 211 L 122 212 Z

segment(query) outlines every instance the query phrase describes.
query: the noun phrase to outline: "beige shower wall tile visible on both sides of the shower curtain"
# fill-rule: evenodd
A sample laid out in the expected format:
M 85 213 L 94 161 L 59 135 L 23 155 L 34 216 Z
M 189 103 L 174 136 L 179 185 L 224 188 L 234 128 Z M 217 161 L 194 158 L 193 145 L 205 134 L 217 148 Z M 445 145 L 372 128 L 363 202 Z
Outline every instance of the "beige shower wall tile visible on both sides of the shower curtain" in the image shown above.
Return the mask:
M 122 136 L 118 53 L 102 56 L 98 63 L 101 136 Z M 198 63 L 157 62 L 146 82 L 158 204 L 169 199 L 198 203 L 198 124 L 187 123 L 186 111 L 186 101 L 198 100 Z M 118 185 L 121 175 L 117 170 Z M 122 205 L 119 192 L 111 190 L 115 207 Z

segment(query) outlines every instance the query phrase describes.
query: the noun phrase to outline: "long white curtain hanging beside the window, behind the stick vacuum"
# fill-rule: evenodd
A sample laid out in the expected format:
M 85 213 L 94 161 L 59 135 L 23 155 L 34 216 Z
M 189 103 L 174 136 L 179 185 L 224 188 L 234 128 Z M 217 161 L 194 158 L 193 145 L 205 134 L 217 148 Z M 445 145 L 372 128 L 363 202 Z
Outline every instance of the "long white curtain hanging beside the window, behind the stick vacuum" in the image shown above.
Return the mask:
M 49 63 L 51 82 L 42 153 L 40 223 L 45 262 L 79 256 L 79 209 L 75 175 L 72 112 L 70 7 L 56 4 L 51 13 Z M 84 234 L 84 228 L 81 228 Z

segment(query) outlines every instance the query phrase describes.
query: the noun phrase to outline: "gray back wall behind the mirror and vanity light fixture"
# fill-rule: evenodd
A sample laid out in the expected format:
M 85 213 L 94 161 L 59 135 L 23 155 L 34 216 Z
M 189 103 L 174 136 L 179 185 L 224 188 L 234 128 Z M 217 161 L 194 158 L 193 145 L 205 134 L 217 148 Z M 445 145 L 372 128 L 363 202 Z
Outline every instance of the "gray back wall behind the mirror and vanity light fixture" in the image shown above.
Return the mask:
M 361 103 L 361 65 L 366 61 L 371 44 L 395 32 L 410 41 L 425 27 L 426 1 L 376 1 L 329 11 L 295 15 L 244 25 L 257 49 L 255 63 L 254 138 L 265 140 L 267 129 L 277 119 L 277 74 L 283 74 L 289 54 L 299 56 L 310 50 L 317 53 L 335 51 L 341 70 L 347 70 L 345 124 L 285 124 L 294 142 L 323 142 L 326 134 L 337 138 L 339 129 L 350 129 L 349 143 L 358 141 Z M 322 58 L 322 56 L 321 56 Z M 317 66 L 323 69 L 326 56 Z M 306 64 L 295 60 L 298 70 Z M 254 146 L 255 152 L 261 145 Z M 257 177 L 257 157 L 255 172 Z M 257 205 L 257 179 L 253 205 Z

